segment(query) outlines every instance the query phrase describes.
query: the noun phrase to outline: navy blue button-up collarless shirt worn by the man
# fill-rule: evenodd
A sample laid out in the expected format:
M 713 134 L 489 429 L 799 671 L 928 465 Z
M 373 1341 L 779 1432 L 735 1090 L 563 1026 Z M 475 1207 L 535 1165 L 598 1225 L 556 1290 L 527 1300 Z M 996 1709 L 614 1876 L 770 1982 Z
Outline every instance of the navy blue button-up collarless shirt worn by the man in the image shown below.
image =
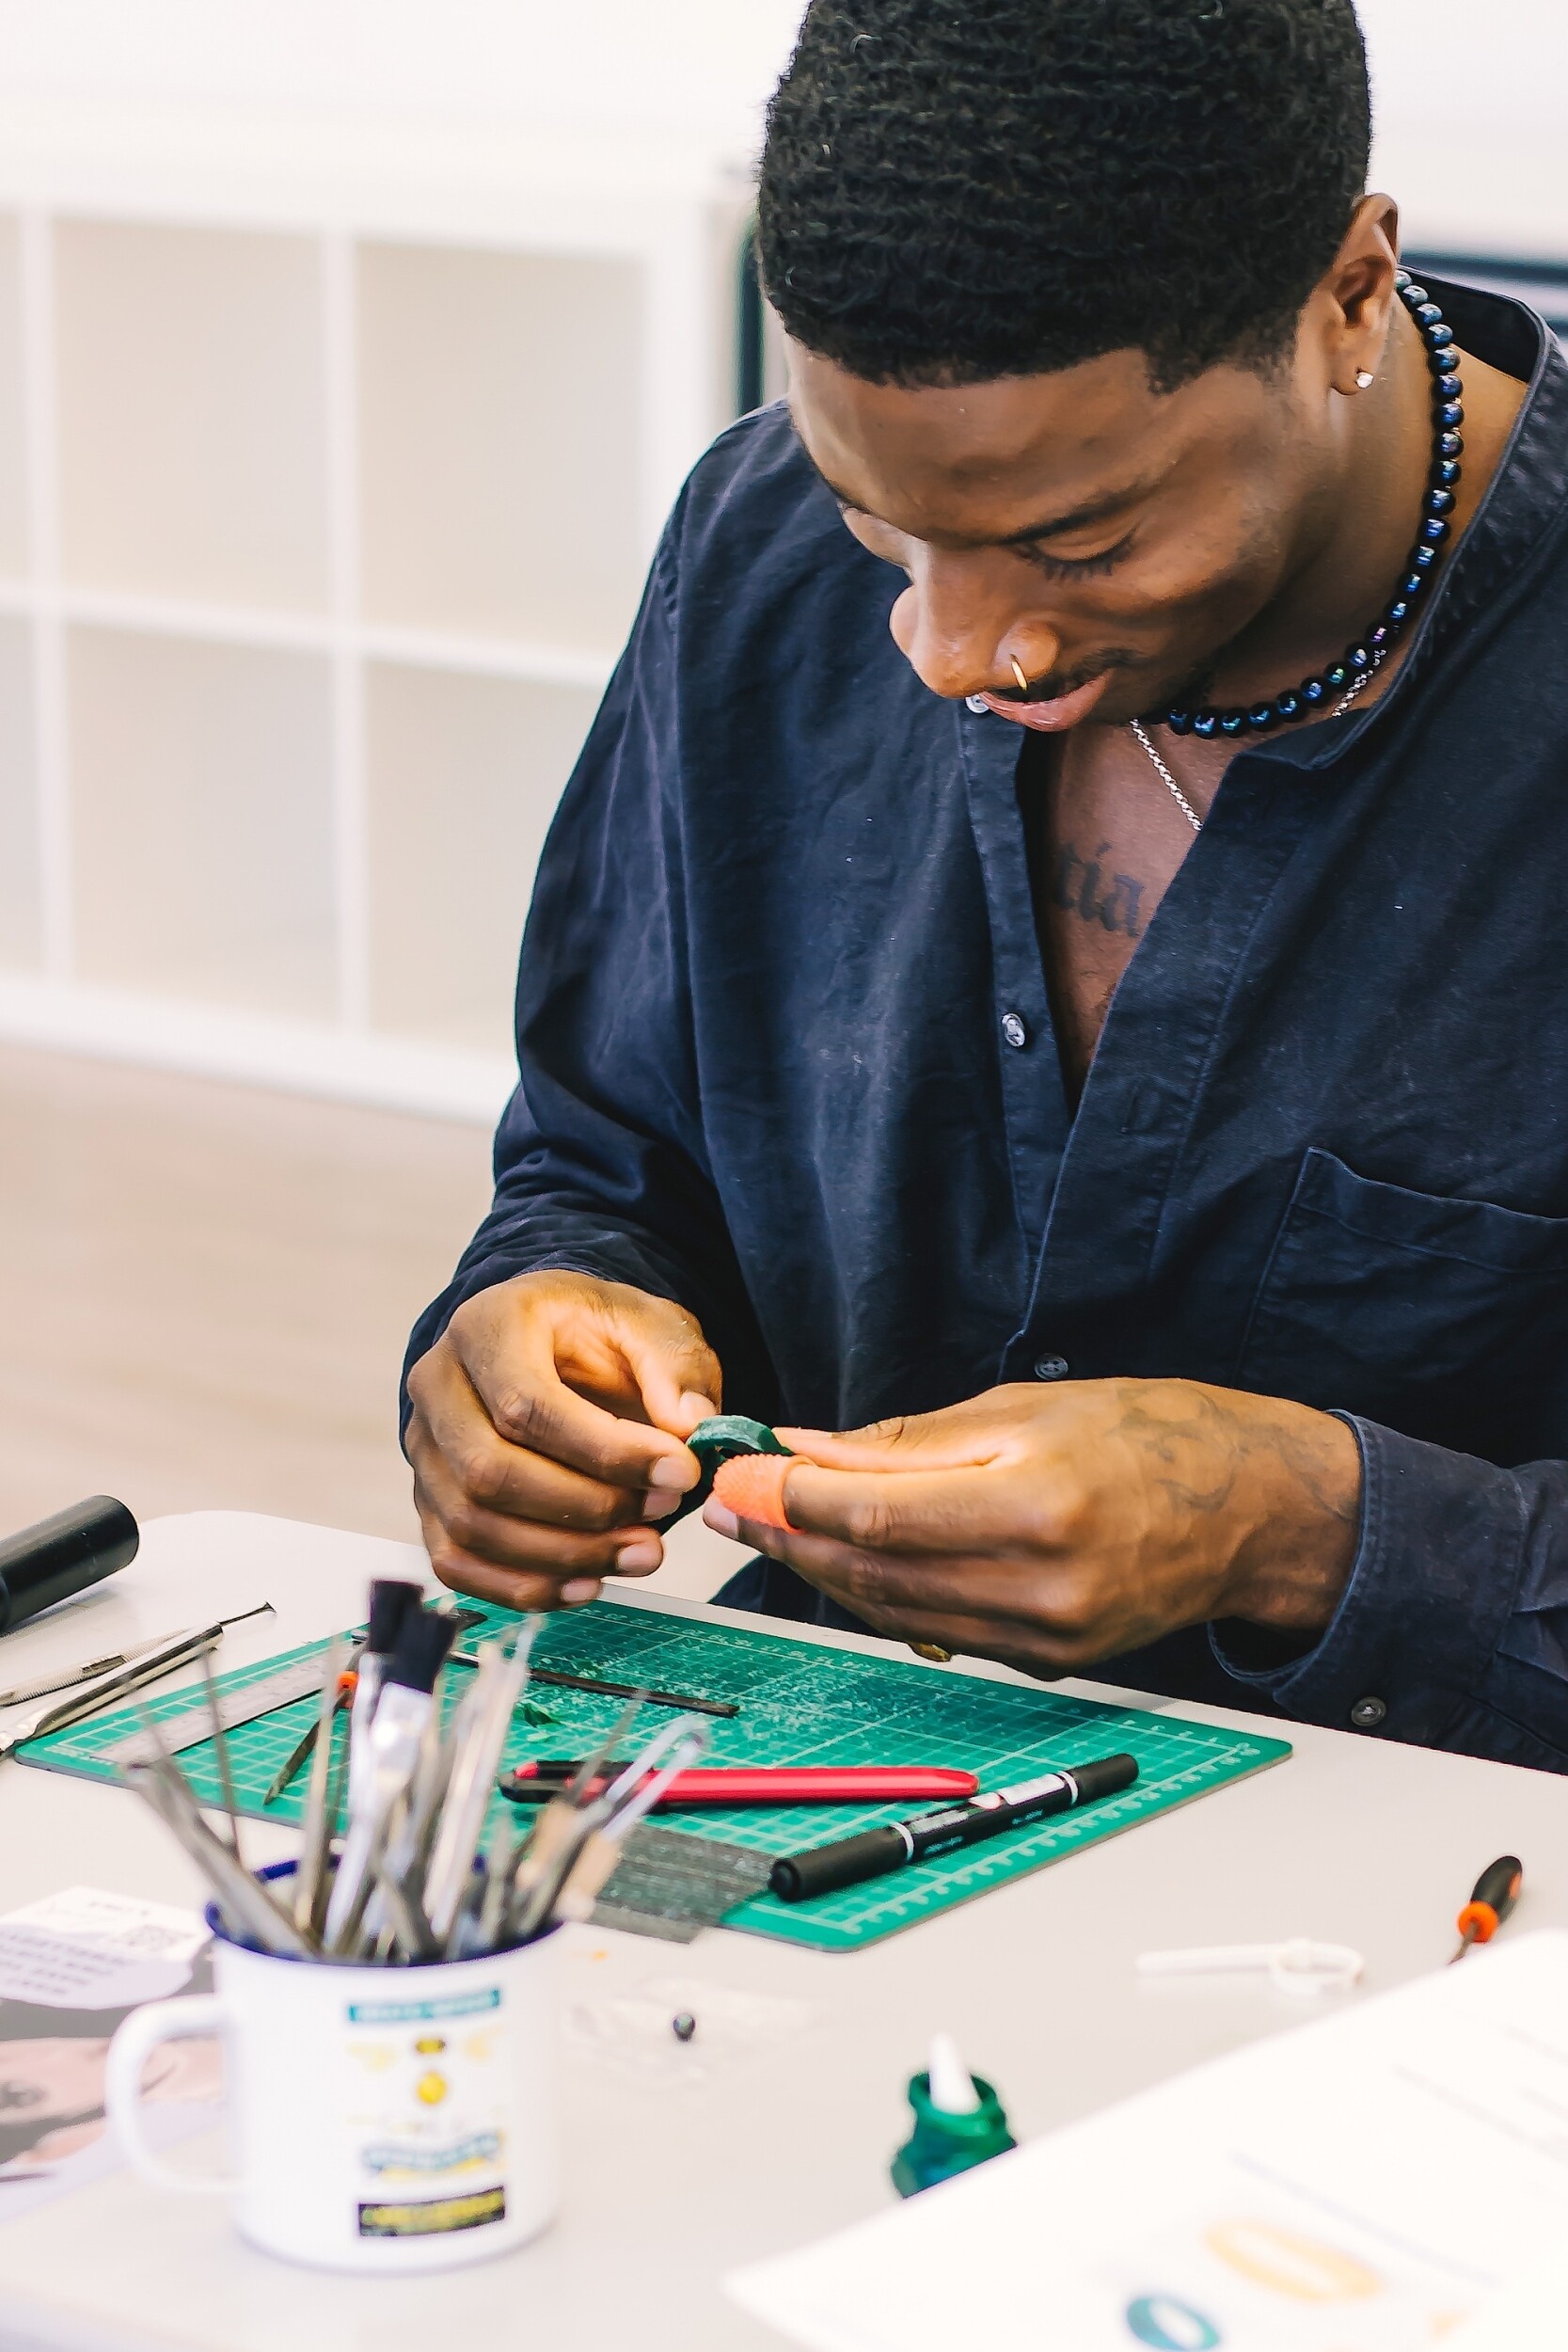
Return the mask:
M 1382 701 L 1232 760 L 1077 1112 L 1020 731 L 914 677 L 783 407 L 715 442 L 538 868 L 496 1200 L 411 1357 L 578 1268 L 691 1308 L 764 1421 L 1063 1371 L 1340 1411 L 1321 1639 L 1100 1672 L 1568 1769 L 1568 365 L 1439 299 L 1528 379 L 1502 468 Z M 736 1597 L 853 1623 L 776 1566 Z

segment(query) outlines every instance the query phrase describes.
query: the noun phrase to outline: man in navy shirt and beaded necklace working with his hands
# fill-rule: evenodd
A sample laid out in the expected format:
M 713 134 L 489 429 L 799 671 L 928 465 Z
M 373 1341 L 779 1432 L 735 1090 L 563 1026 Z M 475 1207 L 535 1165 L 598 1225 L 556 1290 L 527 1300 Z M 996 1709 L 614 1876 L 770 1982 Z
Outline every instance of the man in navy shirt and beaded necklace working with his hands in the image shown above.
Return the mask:
M 811 7 L 790 405 L 411 1345 L 461 1590 L 646 1573 L 722 1395 L 806 1456 L 731 1602 L 1568 1762 L 1568 369 L 1366 155 L 1349 0 Z

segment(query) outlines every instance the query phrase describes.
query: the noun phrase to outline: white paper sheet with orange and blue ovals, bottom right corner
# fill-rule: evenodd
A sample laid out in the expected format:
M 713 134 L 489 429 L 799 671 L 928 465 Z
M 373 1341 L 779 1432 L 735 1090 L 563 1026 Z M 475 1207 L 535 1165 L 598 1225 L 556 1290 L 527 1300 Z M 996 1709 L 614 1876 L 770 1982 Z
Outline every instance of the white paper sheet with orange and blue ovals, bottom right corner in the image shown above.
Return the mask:
M 726 2286 L 816 2352 L 1455 2352 L 1566 2216 L 1568 1933 L 1544 1933 Z

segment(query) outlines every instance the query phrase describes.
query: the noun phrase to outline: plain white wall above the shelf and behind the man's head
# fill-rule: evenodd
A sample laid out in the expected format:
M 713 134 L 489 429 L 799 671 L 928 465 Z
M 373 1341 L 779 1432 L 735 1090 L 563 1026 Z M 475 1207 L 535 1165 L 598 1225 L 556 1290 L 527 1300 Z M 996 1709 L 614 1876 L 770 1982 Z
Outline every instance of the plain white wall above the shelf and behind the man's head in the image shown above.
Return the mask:
M 602 125 L 748 155 L 799 0 L 0 0 L 0 103 Z M 1568 259 L 1566 0 L 1361 0 L 1415 240 Z

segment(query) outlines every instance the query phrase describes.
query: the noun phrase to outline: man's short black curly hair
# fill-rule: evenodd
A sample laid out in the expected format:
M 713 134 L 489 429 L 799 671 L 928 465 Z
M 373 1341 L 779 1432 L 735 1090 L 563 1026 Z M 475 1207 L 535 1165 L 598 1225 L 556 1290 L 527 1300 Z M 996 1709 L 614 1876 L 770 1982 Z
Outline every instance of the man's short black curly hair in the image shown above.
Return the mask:
M 1267 365 L 1366 186 L 1352 0 L 811 0 L 757 254 L 872 383 Z

